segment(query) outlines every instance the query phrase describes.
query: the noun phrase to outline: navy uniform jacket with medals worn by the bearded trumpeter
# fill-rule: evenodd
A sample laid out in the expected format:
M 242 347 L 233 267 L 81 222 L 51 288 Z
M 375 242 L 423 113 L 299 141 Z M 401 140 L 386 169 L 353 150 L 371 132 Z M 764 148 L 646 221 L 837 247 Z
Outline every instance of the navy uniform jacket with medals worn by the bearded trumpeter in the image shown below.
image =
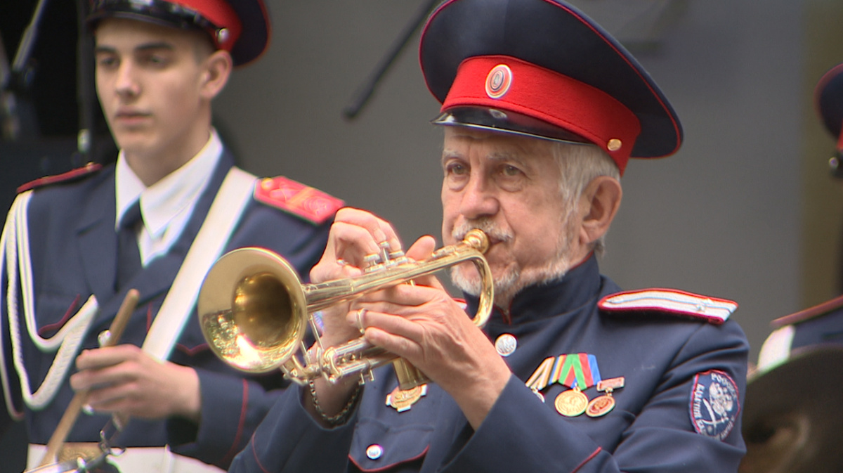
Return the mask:
M 230 471 L 736 471 L 744 454 L 743 331 L 733 321 L 711 325 L 658 309 L 599 309 L 600 298 L 619 290 L 591 257 L 561 280 L 519 293 L 511 323 L 496 310 L 486 332 L 492 341 L 512 334 L 518 347 L 505 358 L 513 376 L 477 431 L 435 384 L 409 411 L 385 406 L 397 382 L 391 368 L 381 368 L 349 422 L 333 429 L 319 427 L 304 410 L 306 388 L 287 390 Z M 625 378 L 613 393 L 613 411 L 562 417 L 554 400 L 566 386 L 547 386 L 545 402 L 526 387 L 543 360 L 568 353 L 593 355 L 603 379 Z M 712 374 L 733 380 L 726 416 L 710 410 Z M 601 394 L 594 387 L 583 393 Z M 698 433 L 695 419 L 711 432 Z

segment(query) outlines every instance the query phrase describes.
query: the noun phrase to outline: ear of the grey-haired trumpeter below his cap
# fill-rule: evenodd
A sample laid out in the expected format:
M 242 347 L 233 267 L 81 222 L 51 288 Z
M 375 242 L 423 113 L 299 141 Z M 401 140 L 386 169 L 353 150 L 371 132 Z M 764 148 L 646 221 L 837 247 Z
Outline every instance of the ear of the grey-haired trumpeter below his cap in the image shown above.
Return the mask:
M 609 231 L 620 207 L 623 191 L 620 181 L 608 175 L 594 178 L 580 197 L 579 208 L 583 215 L 579 238 L 581 245 L 589 245 Z

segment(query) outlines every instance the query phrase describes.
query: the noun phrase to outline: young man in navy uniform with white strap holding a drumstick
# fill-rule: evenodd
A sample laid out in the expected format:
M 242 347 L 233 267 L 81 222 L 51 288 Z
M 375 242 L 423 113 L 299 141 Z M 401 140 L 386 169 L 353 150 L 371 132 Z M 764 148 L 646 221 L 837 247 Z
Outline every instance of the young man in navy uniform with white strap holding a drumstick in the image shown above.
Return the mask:
M 99 102 L 121 151 L 115 165 L 24 186 L 9 213 L 0 425 L 24 419 L 28 464 L 39 465 L 74 394 L 89 390 L 65 448 L 46 462 L 96 456 L 115 414 L 122 471 L 218 471 L 283 382 L 244 376 L 207 349 L 201 280 L 242 246 L 274 250 L 306 275 L 341 201 L 238 169 L 211 125 L 233 67 L 268 45 L 262 0 L 96 0 L 89 26 Z M 99 348 L 130 289 L 139 299 L 123 336 Z

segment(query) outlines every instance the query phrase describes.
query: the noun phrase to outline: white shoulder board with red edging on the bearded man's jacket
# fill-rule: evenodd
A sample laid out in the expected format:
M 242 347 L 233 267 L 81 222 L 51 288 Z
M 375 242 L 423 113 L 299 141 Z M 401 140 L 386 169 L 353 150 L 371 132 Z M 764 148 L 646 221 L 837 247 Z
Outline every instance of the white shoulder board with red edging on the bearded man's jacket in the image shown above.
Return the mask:
M 728 299 L 656 288 L 614 293 L 600 299 L 597 305 L 606 312 L 655 310 L 703 319 L 714 325 L 722 324 L 738 309 L 738 303 Z

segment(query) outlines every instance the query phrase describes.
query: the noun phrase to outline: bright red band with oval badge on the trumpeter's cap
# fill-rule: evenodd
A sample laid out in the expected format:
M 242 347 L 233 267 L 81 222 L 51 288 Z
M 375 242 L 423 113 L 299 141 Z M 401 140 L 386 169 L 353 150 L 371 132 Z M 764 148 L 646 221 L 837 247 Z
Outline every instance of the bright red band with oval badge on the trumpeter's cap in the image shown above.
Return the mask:
M 631 110 L 587 83 L 511 56 L 464 60 L 442 111 L 482 106 L 520 113 L 586 138 L 626 168 L 641 123 Z

